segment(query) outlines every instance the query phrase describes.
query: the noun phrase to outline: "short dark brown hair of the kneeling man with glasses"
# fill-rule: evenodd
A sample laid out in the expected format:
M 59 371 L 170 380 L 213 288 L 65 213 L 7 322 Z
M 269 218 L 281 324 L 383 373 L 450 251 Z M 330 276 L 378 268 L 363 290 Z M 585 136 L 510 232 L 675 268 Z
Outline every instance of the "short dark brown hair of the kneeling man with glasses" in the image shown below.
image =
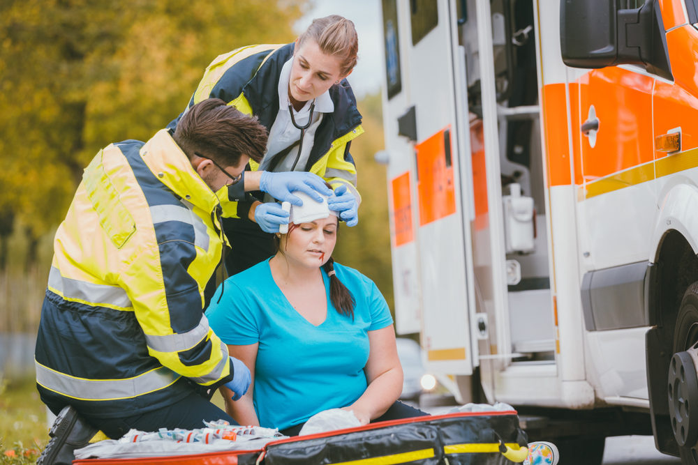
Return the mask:
M 237 166 L 240 155 L 260 162 L 267 150 L 267 128 L 220 98 L 209 98 L 189 108 L 177 123 L 174 142 L 192 158 L 204 153 L 224 167 Z

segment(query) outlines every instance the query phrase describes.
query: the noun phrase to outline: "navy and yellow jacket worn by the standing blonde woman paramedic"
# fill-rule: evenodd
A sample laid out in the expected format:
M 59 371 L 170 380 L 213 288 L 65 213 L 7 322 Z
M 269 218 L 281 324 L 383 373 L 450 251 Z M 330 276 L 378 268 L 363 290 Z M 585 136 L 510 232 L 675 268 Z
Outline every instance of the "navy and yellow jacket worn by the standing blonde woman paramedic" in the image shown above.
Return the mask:
M 260 123 L 271 130 L 279 113 L 279 75 L 283 64 L 293 55 L 293 47 L 294 43 L 250 45 L 217 56 L 206 68 L 189 107 L 207 98 L 221 98 L 239 111 L 257 116 Z M 329 96 L 334 102 L 334 112 L 325 114 L 315 132 L 304 171 L 324 178 L 333 188 L 346 184 L 360 201 L 356 166 L 349 147 L 352 139 L 364 132 L 361 114 L 346 79 L 332 86 Z M 168 127 L 174 128 L 179 118 Z M 259 167 L 253 160 L 249 165 L 253 171 Z M 236 206 L 225 205 L 224 208 L 224 216 L 238 215 Z M 243 213 L 239 216 L 245 217 Z

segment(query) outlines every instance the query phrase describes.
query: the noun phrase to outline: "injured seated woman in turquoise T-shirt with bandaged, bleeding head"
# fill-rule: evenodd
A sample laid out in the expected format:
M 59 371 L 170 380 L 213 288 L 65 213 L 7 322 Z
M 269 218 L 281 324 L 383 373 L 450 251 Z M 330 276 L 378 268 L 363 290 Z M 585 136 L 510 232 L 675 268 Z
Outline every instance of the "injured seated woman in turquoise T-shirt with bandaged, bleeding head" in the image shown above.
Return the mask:
M 335 264 L 339 220 L 302 194 L 271 259 L 225 281 L 206 316 L 252 375 L 226 410 L 241 425 L 296 435 L 327 409 L 370 421 L 424 416 L 397 401 L 402 367 L 385 298 L 357 270 Z M 228 396 L 230 397 L 230 396 Z

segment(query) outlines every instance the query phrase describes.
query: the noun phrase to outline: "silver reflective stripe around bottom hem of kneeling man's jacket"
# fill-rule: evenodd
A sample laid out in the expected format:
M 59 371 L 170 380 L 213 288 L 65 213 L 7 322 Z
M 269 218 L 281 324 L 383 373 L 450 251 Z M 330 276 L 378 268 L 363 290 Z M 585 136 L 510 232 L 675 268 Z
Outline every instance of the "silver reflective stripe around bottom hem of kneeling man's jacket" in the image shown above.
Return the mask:
M 166 367 L 128 379 L 82 379 L 47 368 L 36 360 L 36 382 L 59 394 L 85 400 L 128 399 L 163 389 L 179 379 Z

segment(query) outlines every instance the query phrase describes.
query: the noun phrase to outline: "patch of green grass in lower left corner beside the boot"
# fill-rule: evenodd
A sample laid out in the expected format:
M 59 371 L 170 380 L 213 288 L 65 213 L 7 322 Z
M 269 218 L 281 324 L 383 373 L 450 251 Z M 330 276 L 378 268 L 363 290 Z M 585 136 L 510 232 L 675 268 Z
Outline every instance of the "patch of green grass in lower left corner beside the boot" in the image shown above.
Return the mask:
M 33 464 L 48 440 L 34 379 L 0 381 L 0 464 Z

